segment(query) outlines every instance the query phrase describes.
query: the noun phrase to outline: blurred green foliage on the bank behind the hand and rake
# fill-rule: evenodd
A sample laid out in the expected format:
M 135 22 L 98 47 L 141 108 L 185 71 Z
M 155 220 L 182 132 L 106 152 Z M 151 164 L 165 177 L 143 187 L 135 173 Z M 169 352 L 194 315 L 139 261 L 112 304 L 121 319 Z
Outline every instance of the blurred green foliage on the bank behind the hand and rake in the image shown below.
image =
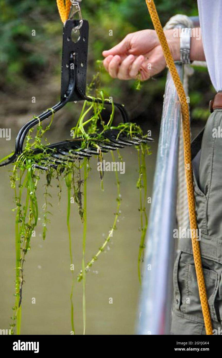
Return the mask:
M 178 13 L 198 15 L 193 0 L 156 0 L 161 22 Z M 145 0 L 83 0 L 83 17 L 90 25 L 88 78 L 95 72 L 95 60 L 102 59 L 102 51 L 117 44 L 129 32 L 153 28 Z M 12 88 L 27 89 L 39 81 L 50 81 L 60 76 L 62 24 L 56 0 L 0 0 L 0 89 L 5 93 Z M 32 30 L 35 36 L 32 36 Z M 113 36 L 109 36 L 109 30 Z M 193 76 L 195 77 L 195 75 Z M 105 89 L 123 103 L 129 103 L 132 116 L 160 117 L 165 79 L 143 84 L 142 90 L 133 89 L 133 81 L 102 76 Z M 206 106 L 211 98 L 206 70 L 198 72 L 192 82 L 191 106 Z M 200 92 L 201 89 L 201 92 Z M 59 92 L 59 88 L 58 88 Z M 145 98 L 145 100 L 144 100 Z M 143 99 L 143 100 L 142 100 Z M 151 104 L 155 104 L 151 106 Z

